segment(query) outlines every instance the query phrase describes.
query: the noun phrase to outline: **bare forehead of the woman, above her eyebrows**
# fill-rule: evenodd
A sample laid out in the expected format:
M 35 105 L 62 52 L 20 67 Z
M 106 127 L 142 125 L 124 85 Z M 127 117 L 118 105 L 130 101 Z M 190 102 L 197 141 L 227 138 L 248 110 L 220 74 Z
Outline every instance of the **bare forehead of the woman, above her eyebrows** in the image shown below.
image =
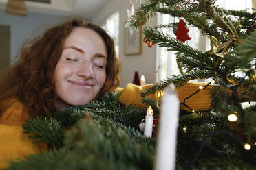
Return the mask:
M 64 43 L 64 48 L 75 46 L 84 51 L 94 51 L 107 56 L 107 47 L 103 38 L 93 29 L 74 27 Z

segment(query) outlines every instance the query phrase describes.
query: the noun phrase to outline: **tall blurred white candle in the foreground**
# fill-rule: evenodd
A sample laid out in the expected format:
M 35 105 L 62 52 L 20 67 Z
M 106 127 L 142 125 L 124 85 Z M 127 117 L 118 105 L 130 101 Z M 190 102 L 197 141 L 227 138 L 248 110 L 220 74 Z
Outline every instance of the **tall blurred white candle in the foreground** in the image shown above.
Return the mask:
M 158 141 L 156 146 L 156 170 L 175 169 L 176 143 L 180 101 L 171 84 L 164 91 L 160 107 Z

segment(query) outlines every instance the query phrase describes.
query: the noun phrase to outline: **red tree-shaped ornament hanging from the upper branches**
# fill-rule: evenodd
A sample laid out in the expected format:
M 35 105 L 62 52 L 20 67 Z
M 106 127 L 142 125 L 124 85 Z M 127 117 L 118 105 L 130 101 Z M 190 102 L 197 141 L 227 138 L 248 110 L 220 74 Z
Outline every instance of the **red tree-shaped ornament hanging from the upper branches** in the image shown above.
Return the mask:
M 176 39 L 180 40 L 181 42 L 185 42 L 186 40 L 191 40 L 191 37 L 189 36 L 188 32 L 189 29 L 186 27 L 186 23 L 183 19 L 180 19 L 180 22 L 178 23 L 178 29 L 176 32 Z

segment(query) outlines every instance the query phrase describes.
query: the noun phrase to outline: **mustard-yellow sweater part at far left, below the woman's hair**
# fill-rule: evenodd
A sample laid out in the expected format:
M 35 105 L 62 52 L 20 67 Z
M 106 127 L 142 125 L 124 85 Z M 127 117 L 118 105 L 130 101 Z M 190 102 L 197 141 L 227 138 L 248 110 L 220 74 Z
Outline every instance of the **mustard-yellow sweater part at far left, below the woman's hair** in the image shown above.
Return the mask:
M 23 134 L 23 124 L 30 117 L 23 104 L 14 101 L 0 117 L 0 169 L 10 162 L 24 159 L 30 154 L 37 154 L 41 149 L 47 150 L 45 143 L 33 143 L 27 134 Z

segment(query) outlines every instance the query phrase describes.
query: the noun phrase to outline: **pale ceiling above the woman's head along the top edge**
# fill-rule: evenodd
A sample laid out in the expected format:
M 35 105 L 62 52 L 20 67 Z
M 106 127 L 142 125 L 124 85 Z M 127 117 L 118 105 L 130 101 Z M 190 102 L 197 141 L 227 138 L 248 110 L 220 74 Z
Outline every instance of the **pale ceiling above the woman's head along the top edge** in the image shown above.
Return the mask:
M 76 15 L 90 19 L 107 1 L 111 0 L 25 0 L 25 4 L 28 15 L 32 12 L 60 16 Z M 5 9 L 7 2 L 8 0 L 0 0 L 0 8 Z

